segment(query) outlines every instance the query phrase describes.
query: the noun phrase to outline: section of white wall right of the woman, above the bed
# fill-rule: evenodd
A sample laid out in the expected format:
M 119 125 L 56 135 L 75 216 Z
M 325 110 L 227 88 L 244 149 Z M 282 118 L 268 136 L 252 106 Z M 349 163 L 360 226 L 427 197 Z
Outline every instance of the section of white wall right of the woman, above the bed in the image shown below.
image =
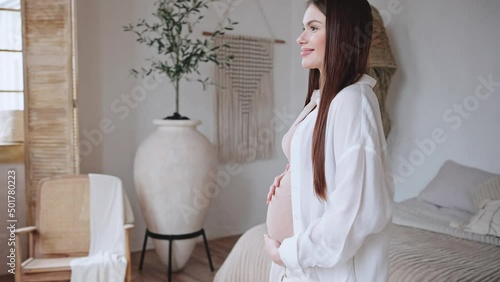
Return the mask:
M 500 1 L 371 3 L 384 17 L 398 64 L 388 101 L 388 143 L 393 171 L 401 176 L 396 201 L 417 195 L 447 159 L 500 173 Z M 497 82 L 494 92 L 483 88 L 490 97 L 475 98 L 479 77 L 489 76 Z M 464 101 L 462 117 L 454 105 Z M 435 149 L 425 153 L 417 143 L 430 142 L 435 130 L 442 130 L 444 142 L 432 141 Z

